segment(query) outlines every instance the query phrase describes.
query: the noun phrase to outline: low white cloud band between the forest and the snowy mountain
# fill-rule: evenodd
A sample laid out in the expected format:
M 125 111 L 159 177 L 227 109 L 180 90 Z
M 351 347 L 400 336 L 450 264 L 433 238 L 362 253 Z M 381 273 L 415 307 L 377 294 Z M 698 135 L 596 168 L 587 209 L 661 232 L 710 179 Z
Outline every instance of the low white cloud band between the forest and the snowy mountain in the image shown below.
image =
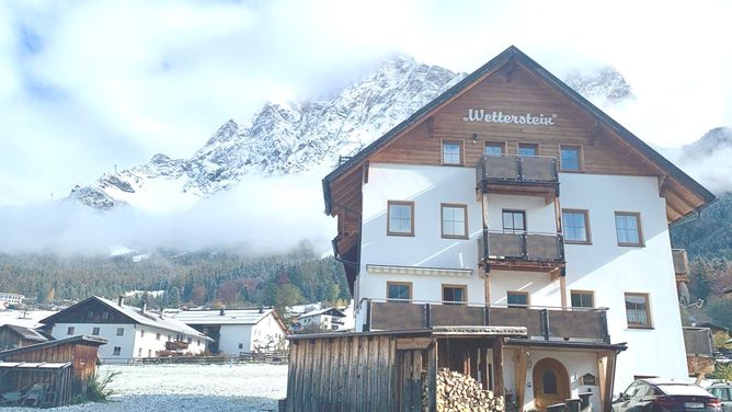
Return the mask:
M 0 251 L 110 254 L 128 248 L 285 252 L 301 241 L 328 253 L 335 219 L 323 214 L 320 175 L 248 176 L 230 192 L 163 215 L 118 207 L 100 213 L 75 202 L 0 208 Z

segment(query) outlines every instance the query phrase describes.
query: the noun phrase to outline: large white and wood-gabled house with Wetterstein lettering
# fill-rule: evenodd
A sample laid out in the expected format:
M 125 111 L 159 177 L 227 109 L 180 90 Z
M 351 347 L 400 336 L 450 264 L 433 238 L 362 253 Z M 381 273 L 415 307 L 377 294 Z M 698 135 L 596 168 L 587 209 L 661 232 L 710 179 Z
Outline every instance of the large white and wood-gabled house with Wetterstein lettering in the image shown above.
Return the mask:
M 687 376 L 668 226 L 714 196 L 515 47 L 323 191 L 357 331 L 527 327 L 472 368 L 526 410 Z

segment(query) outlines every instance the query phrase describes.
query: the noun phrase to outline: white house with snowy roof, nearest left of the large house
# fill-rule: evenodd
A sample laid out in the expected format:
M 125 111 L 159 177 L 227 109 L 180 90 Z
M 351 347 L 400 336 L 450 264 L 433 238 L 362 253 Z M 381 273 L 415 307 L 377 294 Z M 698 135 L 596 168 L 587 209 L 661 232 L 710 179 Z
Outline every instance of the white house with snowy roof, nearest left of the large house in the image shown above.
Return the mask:
M 172 316 L 211 337 L 209 351 L 215 354 L 273 352 L 287 345 L 287 328 L 274 309 L 180 310 Z

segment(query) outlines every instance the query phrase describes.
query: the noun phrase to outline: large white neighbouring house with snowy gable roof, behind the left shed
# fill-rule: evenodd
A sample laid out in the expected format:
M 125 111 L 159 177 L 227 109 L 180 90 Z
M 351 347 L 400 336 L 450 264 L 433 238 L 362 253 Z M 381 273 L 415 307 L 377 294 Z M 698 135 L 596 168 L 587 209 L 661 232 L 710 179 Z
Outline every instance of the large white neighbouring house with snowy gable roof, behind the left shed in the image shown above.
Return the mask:
M 201 354 L 211 341 L 203 333 L 160 312 L 114 302 L 93 296 L 41 321 L 55 339 L 88 334 L 104 337 L 100 350 L 105 363 L 126 363 L 135 358 L 171 353 Z

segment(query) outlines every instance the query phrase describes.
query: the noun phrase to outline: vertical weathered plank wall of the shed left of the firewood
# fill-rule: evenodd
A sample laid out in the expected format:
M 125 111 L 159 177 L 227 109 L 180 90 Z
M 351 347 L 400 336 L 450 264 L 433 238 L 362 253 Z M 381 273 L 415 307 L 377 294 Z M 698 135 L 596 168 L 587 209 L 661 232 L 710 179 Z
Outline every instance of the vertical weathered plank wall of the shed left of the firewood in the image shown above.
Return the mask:
M 285 411 L 421 411 L 436 350 L 397 351 L 396 335 L 298 339 L 290 344 Z M 434 398 L 434 396 L 432 396 Z

